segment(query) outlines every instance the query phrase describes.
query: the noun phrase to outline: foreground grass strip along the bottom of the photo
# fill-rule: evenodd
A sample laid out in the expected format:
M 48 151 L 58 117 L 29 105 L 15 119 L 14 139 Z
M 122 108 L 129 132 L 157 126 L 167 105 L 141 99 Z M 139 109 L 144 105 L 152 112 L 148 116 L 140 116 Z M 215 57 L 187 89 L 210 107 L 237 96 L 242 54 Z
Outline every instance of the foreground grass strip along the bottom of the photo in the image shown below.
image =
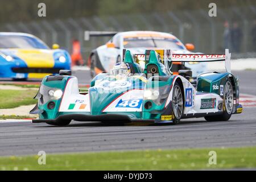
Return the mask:
M 209 165 L 209 151 L 217 152 L 217 164 Z M 0 170 L 174 170 L 256 168 L 256 147 L 144 150 L 0 157 Z

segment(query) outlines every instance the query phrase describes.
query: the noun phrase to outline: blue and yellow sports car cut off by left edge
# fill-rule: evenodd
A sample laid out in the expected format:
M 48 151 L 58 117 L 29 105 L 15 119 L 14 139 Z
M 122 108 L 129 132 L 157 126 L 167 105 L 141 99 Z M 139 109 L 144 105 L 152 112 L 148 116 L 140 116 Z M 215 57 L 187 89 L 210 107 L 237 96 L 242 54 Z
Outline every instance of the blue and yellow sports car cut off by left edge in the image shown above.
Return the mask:
M 30 34 L 0 32 L 0 78 L 43 78 L 71 69 L 71 57 L 57 44 L 50 49 Z

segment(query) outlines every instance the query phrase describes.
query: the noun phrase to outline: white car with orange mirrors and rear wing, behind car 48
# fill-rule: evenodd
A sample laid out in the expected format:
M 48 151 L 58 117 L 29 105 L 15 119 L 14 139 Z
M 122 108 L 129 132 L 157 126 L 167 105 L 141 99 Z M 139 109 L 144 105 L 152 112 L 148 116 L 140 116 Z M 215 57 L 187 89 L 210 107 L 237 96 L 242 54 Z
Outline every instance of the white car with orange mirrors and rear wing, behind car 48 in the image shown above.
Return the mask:
M 105 45 L 94 49 L 89 56 L 88 65 L 91 76 L 94 77 L 101 72 L 110 72 L 113 65 L 123 59 L 123 49 L 129 49 L 134 54 L 144 54 L 146 49 L 172 49 L 176 54 L 193 53 L 193 44 L 184 44 L 176 36 L 156 31 L 127 31 L 127 32 L 100 32 L 85 31 L 85 40 L 90 36 L 113 36 Z M 197 52 L 198 53 L 198 52 Z M 142 60 L 144 60 L 142 58 Z M 139 61 L 142 70 L 143 61 Z M 206 63 L 173 63 L 172 72 L 178 74 L 180 69 L 191 69 L 196 77 L 207 71 Z

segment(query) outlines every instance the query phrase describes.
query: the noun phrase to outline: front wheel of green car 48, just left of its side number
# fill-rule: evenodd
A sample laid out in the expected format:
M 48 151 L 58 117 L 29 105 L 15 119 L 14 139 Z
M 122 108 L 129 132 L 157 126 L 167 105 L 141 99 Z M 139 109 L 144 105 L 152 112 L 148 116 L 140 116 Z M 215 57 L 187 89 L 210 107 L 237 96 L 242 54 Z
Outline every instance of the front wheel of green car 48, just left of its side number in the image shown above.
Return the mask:
M 183 115 L 183 94 L 181 92 L 181 87 L 178 82 L 175 82 L 174 89 L 172 93 L 172 113 L 174 118 L 172 118 L 172 122 L 176 125 L 180 122 L 180 119 Z

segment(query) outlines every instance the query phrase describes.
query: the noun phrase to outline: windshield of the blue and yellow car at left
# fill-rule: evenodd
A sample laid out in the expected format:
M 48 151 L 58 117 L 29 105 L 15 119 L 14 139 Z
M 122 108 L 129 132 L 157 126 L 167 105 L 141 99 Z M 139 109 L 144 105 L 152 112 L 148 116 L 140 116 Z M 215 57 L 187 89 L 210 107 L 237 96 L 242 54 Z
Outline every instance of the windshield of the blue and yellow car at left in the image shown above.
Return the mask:
M 0 48 L 49 49 L 42 40 L 21 35 L 0 35 Z

